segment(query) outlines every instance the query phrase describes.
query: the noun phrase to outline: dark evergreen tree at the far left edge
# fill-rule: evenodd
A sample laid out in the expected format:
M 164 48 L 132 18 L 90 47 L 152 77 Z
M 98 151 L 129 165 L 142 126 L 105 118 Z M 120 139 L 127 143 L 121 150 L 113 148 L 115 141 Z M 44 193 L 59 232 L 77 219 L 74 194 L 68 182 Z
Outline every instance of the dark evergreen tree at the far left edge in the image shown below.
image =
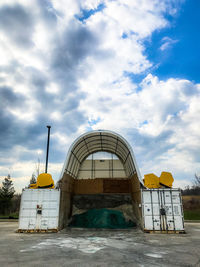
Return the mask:
M 15 193 L 15 189 L 13 187 L 13 183 L 8 174 L 2 182 L 2 187 L 0 188 L 0 212 L 2 214 L 6 214 L 10 212 L 11 208 L 11 199 L 13 198 Z

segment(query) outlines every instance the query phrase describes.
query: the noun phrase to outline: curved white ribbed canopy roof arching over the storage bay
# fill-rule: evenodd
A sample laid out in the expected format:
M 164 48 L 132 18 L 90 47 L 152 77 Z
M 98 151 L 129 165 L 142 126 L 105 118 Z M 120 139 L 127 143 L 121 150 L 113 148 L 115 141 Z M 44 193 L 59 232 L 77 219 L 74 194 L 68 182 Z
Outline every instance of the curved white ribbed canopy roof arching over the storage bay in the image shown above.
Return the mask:
M 116 154 L 124 165 L 126 175 L 130 177 L 137 173 L 141 181 L 141 175 L 131 146 L 121 135 L 107 130 L 87 132 L 72 143 L 63 166 L 61 178 L 64 172 L 77 178 L 81 163 L 90 154 L 98 151 Z

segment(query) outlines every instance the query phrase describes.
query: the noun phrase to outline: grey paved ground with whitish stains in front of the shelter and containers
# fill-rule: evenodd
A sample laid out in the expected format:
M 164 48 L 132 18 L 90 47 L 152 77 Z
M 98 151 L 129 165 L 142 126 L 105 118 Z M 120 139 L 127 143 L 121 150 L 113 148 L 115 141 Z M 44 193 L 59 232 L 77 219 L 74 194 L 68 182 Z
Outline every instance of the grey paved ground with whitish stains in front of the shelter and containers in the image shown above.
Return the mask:
M 0 266 L 200 266 L 200 223 L 187 234 L 140 230 L 71 229 L 51 234 L 16 233 L 0 222 Z

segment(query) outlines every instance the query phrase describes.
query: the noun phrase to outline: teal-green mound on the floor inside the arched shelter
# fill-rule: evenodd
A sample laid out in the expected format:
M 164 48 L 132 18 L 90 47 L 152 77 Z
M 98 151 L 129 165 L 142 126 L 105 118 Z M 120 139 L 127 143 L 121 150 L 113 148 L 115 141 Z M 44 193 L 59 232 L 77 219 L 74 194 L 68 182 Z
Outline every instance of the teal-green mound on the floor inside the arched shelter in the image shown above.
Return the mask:
M 121 211 L 109 209 L 91 209 L 84 213 L 74 215 L 69 226 L 80 228 L 117 229 L 134 227 L 136 224 L 132 221 L 127 222 Z

